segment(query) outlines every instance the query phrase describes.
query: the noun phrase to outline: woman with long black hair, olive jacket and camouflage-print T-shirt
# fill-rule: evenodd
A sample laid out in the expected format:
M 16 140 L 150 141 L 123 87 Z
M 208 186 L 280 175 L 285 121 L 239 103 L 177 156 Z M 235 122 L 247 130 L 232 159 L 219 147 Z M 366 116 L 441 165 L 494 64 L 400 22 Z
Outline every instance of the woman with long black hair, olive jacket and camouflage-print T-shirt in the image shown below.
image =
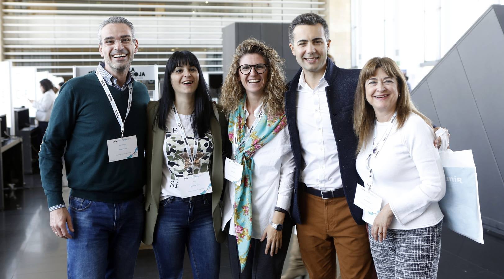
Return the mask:
M 160 278 L 182 277 L 185 247 L 195 278 L 218 278 L 227 121 L 190 51 L 171 55 L 163 84 L 161 99 L 147 106 L 143 242 L 153 245 Z

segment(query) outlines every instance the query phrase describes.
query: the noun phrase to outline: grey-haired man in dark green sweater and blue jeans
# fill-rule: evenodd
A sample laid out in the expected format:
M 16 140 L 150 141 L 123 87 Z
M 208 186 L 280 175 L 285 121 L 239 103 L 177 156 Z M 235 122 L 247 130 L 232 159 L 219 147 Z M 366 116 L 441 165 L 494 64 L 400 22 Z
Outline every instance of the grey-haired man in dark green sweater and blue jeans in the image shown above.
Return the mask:
M 133 24 L 110 17 L 98 30 L 105 62 L 66 82 L 40 146 L 40 175 L 54 234 L 67 239 L 68 277 L 132 278 L 144 225 L 147 87 L 130 65 Z M 62 198 L 65 157 L 69 208 Z

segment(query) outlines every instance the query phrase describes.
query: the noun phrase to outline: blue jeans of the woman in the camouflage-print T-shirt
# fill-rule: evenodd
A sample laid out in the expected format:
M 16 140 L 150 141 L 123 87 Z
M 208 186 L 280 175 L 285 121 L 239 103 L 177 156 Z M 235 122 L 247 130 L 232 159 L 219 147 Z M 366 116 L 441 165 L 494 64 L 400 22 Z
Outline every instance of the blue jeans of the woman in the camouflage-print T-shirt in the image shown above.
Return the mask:
M 194 278 L 218 278 L 220 244 L 215 240 L 212 194 L 159 203 L 154 241 L 159 278 L 182 278 L 185 246 Z

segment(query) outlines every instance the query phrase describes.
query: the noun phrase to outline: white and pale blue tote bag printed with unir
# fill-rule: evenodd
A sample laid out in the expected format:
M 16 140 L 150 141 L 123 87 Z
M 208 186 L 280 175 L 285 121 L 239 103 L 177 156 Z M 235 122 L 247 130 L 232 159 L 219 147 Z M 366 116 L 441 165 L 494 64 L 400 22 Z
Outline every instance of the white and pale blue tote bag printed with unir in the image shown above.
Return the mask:
M 445 215 L 443 226 L 483 243 L 483 225 L 479 208 L 478 178 L 472 150 L 440 151 L 445 170 L 446 195 L 439 201 Z

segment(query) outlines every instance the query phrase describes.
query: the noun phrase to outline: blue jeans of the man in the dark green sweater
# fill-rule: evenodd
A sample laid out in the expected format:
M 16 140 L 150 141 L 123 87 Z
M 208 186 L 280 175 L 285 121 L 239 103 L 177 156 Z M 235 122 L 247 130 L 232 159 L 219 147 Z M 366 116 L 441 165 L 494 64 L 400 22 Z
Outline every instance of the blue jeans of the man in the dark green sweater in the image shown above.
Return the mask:
M 144 228 L 143 196 L 110 204 L 70 196 L 75 232 L 67 240 L 68 278 L 133 278 Z

